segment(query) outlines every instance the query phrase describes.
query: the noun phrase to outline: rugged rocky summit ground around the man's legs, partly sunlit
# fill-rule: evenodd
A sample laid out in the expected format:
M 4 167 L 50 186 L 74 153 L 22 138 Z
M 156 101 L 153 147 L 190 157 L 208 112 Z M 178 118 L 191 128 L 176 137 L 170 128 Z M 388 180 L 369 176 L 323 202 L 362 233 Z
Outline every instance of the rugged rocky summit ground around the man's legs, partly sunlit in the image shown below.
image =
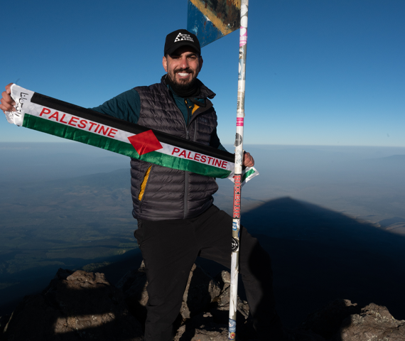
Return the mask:
M 42 293 L 26 296 L 11 316 L 0 317 L 0 340 L 144 340 L 147 283 L 144 264 L 116 286 L 104 274 L 59 269 Z M 229 272 L 212 278 L 193 266 L 174 341 L 228 340 L 229 284 Z M 258 341 L 247 301 L 238 297 L 237 306 L 237 340 Z M 395 320 L 384 306 L 360 307 L 338 299 L 308 315 L 295 330 L 286 330 L 286 339 L 405 341 L 405 320 Z

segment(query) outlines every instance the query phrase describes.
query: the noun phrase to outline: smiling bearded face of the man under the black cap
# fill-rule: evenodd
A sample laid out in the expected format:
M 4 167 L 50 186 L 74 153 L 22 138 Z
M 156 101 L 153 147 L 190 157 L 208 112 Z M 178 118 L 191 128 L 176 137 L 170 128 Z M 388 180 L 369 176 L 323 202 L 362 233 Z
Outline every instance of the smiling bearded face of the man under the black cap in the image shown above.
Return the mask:
M 202 58 L 190 46 L 183 46 L 163 57 L 163 67 L 175 85 L 188 89 L 201 70 Z

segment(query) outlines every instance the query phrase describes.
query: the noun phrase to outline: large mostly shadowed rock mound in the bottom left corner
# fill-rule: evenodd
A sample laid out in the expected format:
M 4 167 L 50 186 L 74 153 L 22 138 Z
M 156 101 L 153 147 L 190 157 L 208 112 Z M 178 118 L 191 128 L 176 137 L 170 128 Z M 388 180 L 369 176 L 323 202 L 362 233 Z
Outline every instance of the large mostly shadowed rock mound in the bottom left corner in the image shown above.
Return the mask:
M 143 340 L 140 323 L 104 274 L 63 269 L 43 293 L 18 304 L 5 333 L 9 341 Z

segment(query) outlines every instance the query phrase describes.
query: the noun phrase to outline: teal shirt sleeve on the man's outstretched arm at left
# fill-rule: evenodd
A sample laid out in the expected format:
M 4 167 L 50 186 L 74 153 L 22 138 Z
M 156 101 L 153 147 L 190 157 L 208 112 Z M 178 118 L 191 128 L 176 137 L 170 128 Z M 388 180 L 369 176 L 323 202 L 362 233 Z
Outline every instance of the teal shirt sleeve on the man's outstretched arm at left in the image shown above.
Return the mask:
M 125 121 L 137 124 L 141 112 L 141 98 L 136 90 L 131 89 L 109 99 L 107 102 L 99 105 L 99 107 L 91 109 L 96 112 L 101 112 L 102 114 L 116 117 L 117 119 L 124 119 Z

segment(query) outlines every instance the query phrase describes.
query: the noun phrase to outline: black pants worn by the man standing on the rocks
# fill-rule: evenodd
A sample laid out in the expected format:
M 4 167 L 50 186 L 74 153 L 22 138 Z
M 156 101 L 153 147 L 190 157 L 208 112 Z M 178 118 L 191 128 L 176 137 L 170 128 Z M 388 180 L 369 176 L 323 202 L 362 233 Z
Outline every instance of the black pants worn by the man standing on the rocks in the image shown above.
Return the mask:
M 271 259 L 244 227 L 240 235 L 239 272 L 254 327 L 262 340 L 281 340 L 281 323 L 274 307 Z M 188 220 L 139 220 L 135 237 L 148 278 L 145 341 L 169 341 L 196 257 L 230 268 L 232 217 L 212 206 L 199 217 Z

